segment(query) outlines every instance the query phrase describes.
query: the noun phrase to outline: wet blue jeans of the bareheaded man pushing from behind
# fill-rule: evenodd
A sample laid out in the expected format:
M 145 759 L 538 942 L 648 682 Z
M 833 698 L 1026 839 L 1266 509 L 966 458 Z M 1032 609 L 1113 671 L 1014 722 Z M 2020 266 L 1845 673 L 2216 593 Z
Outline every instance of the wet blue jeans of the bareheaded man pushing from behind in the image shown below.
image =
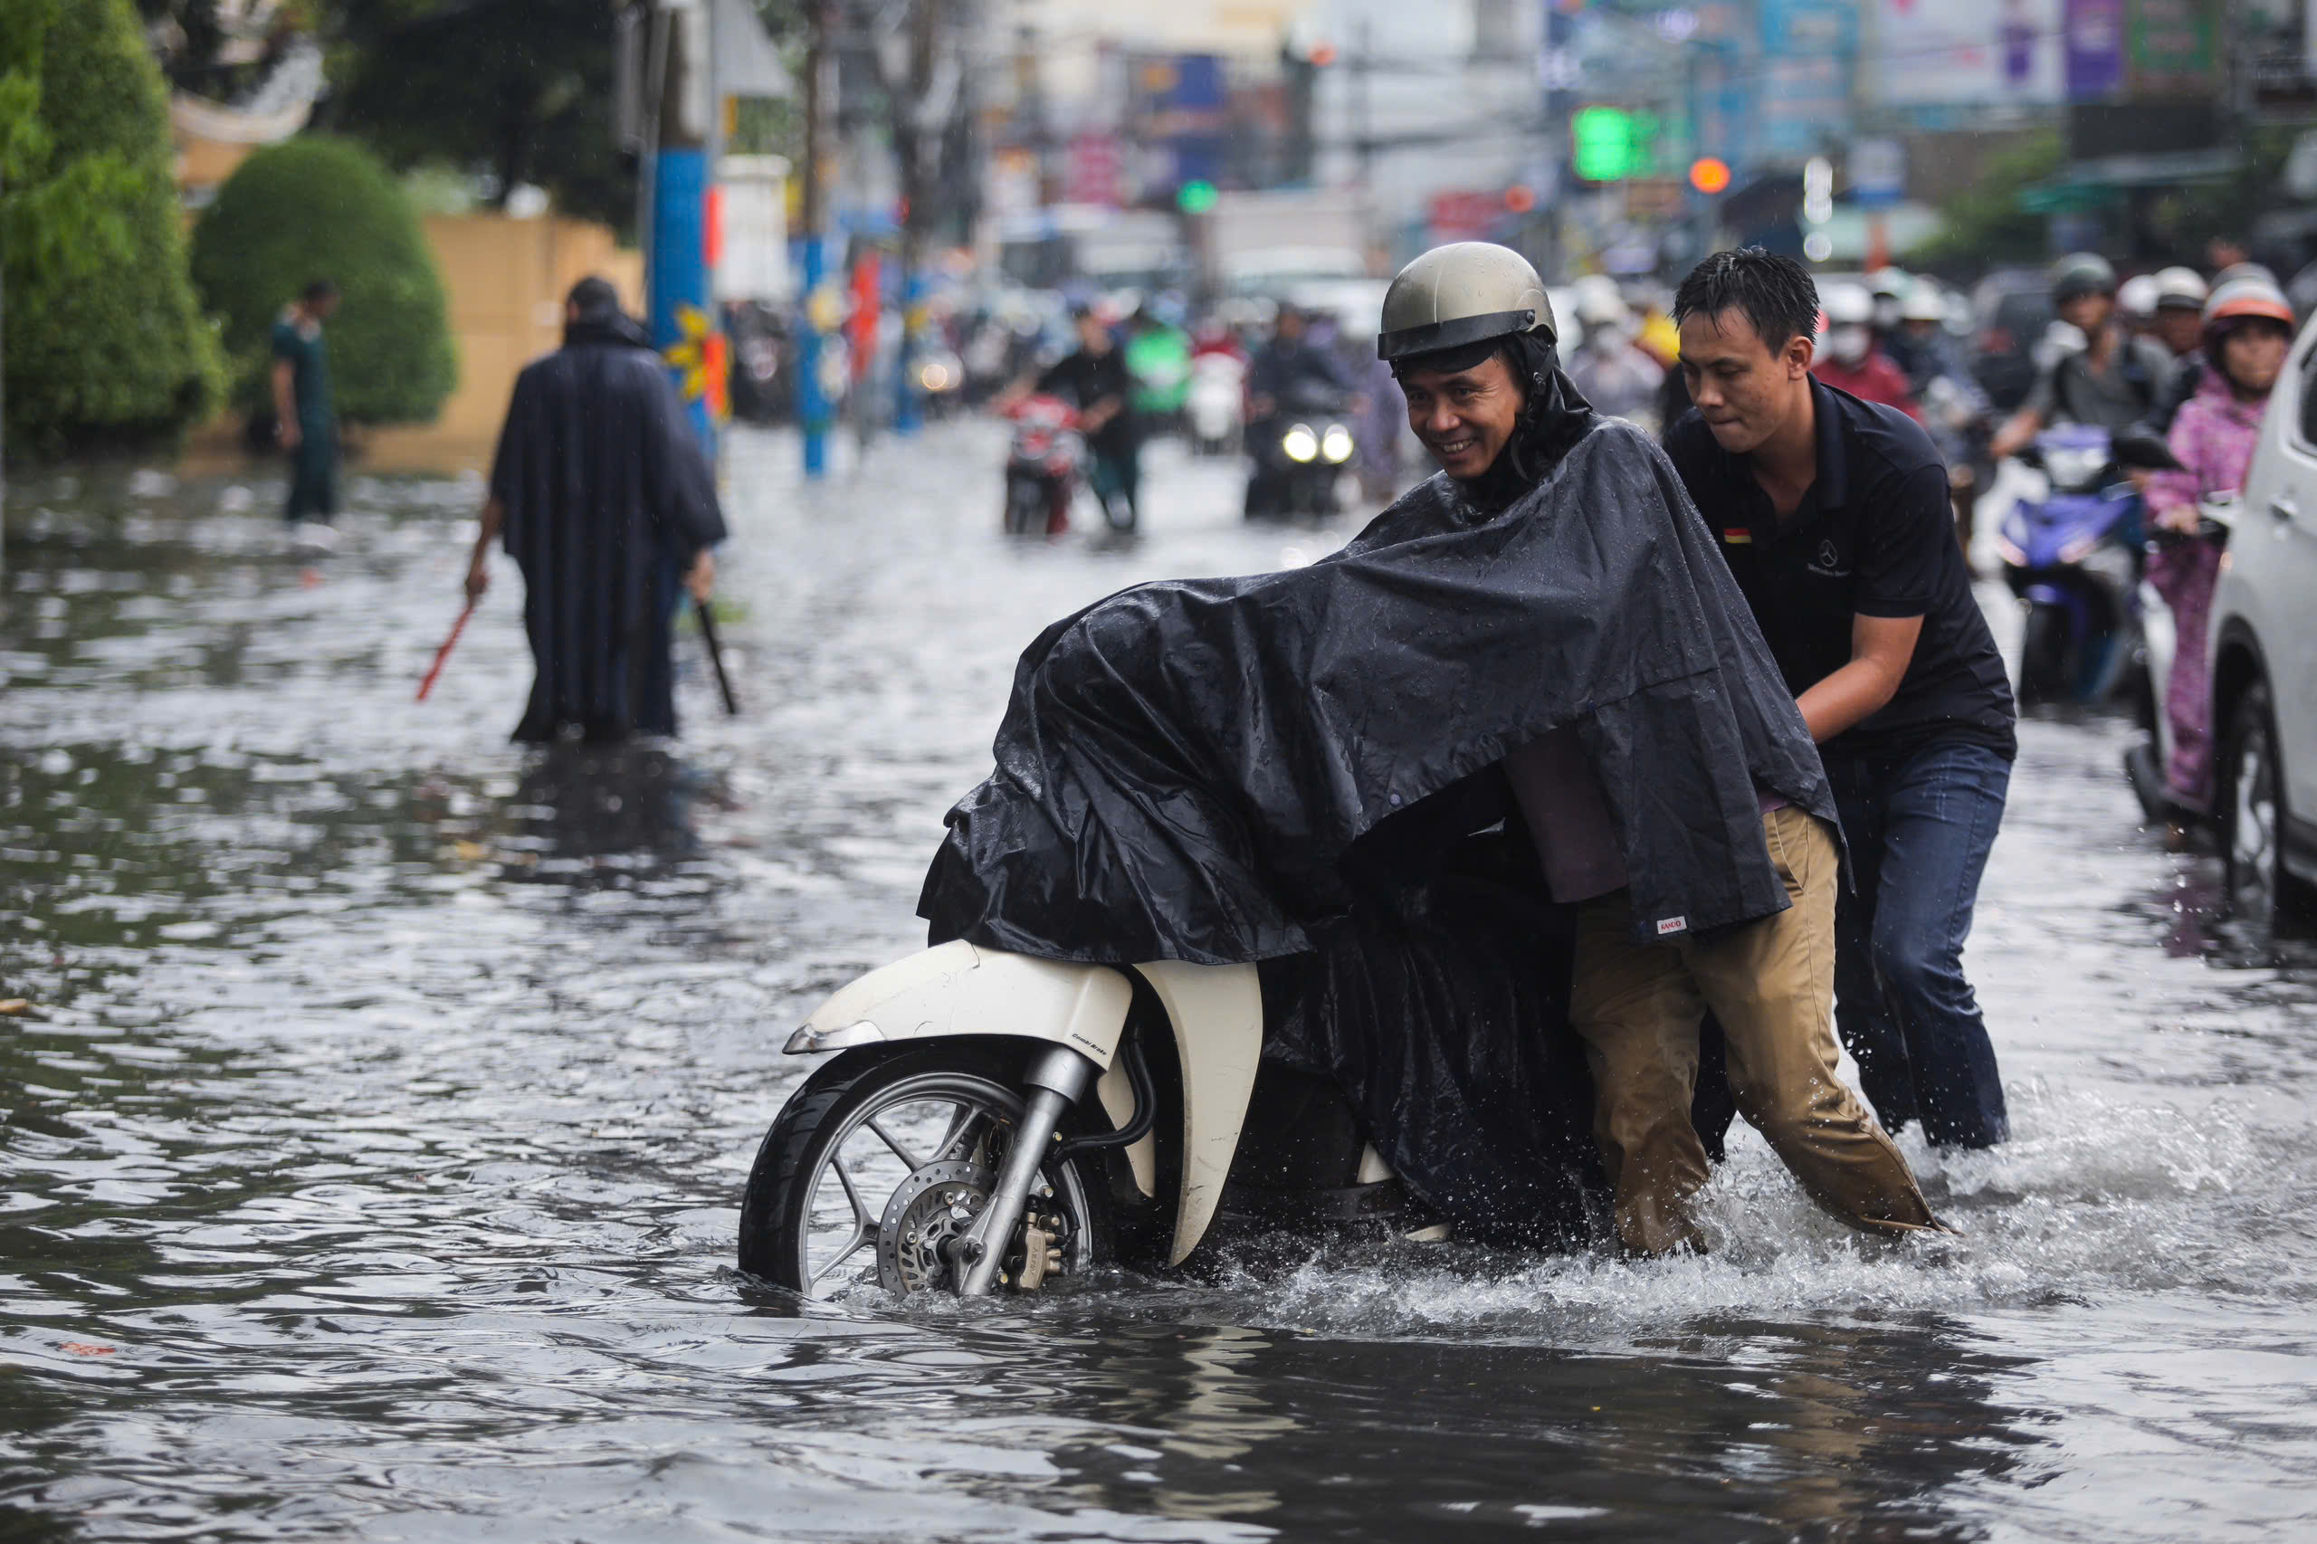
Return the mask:
M 1905 756 L 1826 758 L 1851 883 L 1835 906 L 1835 1029 L 1884 1127 L 1909 1120 L 1942 1148 L 2011 1134 L 1995 1046 L 1962 941 L 2004 818 L 2011 763 L 1937 740 Z

